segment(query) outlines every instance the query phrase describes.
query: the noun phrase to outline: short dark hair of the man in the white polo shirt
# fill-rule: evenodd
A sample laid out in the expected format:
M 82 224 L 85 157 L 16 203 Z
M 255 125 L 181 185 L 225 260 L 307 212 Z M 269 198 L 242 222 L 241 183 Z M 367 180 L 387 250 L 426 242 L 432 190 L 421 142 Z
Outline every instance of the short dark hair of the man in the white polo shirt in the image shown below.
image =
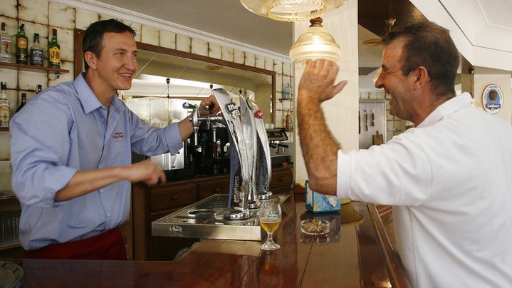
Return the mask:
M 435 96 L 455 94 L 455 76 L 459 68 L 459 52 L 449 31 L 434 22 L 420 22 L 391 32 L 382 39 L 385 46 L 404 38 L 402 73 L 409 75 L 419 66 L 427 68 Z

